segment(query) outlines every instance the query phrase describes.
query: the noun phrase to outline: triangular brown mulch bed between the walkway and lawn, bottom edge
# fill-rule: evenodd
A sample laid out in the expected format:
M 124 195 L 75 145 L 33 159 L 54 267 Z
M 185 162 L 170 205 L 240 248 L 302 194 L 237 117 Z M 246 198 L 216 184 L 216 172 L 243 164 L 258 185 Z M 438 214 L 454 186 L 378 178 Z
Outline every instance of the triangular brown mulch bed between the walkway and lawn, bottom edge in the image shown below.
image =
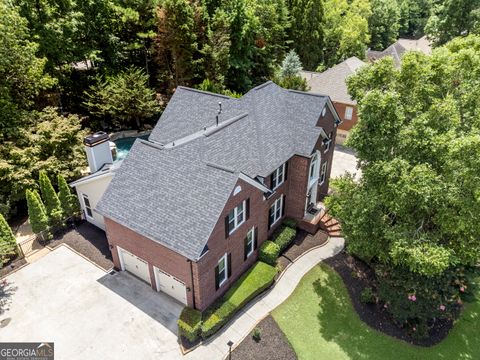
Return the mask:
M 288 343 L 282 330 L 271 316 L 267 316 L 258 325 L 260 340 L 256 342 L 250 333 L 232 351 L 232 359 L 244 360 L 295 360 L 297 356 Z

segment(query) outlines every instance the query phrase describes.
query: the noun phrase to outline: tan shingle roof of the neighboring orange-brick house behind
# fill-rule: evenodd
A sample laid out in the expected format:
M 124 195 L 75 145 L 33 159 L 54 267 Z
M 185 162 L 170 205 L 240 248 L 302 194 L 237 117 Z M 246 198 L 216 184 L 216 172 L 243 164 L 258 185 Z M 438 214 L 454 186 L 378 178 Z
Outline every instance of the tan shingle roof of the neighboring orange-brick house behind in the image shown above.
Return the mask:
M 307 80 L 311 92 L 329 95 L 333 101 L 355 105 L 356 102 L 348 94 L 346 79 L 363 65 L 365 63 L 362 60 L 353 56 L 322 73 L 302 71 L 301 76 Z

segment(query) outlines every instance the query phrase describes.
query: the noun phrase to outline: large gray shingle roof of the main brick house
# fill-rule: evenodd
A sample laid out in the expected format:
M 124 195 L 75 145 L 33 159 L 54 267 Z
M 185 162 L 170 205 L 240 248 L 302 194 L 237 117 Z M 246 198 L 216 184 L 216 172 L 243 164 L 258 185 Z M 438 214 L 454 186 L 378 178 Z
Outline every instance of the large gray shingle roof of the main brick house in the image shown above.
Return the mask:
M 96 210 L 197 260 L 240 173 L 267 176 L 293 154 L 310 155 L 327 101 L 271 82 L 240 99 L 179 88 L 149 141 L 135 142 Z

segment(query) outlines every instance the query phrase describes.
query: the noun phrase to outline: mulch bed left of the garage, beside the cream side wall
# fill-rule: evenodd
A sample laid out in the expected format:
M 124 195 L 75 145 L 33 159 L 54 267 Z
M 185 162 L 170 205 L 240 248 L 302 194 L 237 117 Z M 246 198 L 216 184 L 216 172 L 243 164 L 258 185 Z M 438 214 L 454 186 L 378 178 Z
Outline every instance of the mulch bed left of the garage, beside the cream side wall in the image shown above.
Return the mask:
M 78 251 L 102 269 L 109 270 L 113 267 L 112 254 L 108 247 L 105 232 L 92 224 L 83 222 L 75 229 L 69 230 L 52 240 L 48 246 L 57 247 L 63 243 Z

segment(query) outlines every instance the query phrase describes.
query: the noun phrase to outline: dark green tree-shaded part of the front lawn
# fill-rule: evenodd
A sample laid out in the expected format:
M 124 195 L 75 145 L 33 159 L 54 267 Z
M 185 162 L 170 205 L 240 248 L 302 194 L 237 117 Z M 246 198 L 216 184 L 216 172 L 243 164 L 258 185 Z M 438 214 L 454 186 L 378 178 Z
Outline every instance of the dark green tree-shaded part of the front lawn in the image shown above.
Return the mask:
M 330 269 L 323 273 L 324 276 L 313 283 L 319 298 L 320 335 L 337 344 L 351 359 L 479 358 L 480 304 L 470 304 L 464 310 L 444 341 L 432 347 L 419 347 L 370 328 L 358 317 L 340 276 Z

